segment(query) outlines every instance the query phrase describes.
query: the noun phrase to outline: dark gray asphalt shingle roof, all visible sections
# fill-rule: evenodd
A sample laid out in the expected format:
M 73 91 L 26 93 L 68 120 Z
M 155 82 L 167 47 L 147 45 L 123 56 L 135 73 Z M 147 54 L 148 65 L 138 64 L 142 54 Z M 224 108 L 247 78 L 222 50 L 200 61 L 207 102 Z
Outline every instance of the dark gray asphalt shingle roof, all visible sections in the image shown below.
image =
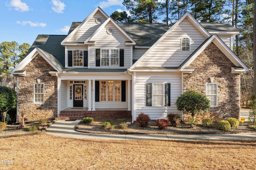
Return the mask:
M 73 22 L 70 34 L 81 22 Z M 165 23 L 118 23 L 118 25 L 136 41 L 137 46 L 152 46 L 167 30 Z M 207 31 L 238 31 L 228 23 L 201 23 Z M 42 52 L 58 68 L 67 72 L 124 72 L 126 69 L 88 69 L 88 68 L 65 68 L 65 48 L 61 42 L 67 35 L 38 35 L 32 44 L 28 54 L 36 47 L 42 49 Z

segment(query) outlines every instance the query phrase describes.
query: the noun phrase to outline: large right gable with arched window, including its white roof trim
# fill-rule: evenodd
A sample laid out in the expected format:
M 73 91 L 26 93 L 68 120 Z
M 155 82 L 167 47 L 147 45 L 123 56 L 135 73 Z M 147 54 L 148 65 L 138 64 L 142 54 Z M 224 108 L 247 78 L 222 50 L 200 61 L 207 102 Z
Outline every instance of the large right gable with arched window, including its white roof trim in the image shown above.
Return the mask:
M 178 67 L 208 37 L 210 33 L 187 12 L 131 68 Z M 188 51 L 182 51 L 183 38 L 190 40 Z

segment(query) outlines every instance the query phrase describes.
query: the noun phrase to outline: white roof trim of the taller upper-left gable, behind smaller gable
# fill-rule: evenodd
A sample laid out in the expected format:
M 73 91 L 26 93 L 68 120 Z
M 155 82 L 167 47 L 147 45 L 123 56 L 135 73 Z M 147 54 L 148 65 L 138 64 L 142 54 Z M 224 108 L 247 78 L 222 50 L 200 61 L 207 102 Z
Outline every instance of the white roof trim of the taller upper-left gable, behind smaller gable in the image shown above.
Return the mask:
M 70 39 L 76 33 L 76 31 L 78 31 L 82 27 L 82 25 L 89 21 L 90 18 L 92 18 L 94 14 L 96 14 L 96 12 L 98 11 L 101 12 L 106 18 L 109 18 L 109 16 L 100 7 L 97 7 L 88 17 L 84 19 L 84 21 L 80 23 L 80 25 L 78 25 L 71 33 L 68 33 L 68 36 L 61 42 L 61 44 L 66 43 L 66 41 L 68 41 L 68 39 Z

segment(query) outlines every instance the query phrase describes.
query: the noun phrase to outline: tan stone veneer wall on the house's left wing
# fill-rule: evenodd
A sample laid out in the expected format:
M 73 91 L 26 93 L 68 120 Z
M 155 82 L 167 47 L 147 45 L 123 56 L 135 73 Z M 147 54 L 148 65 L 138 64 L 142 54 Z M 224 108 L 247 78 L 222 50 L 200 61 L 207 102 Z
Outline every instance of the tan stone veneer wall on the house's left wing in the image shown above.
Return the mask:
M 54 70 L 40 55 L 27 66 L 26 76 L 18 78 L 18 122 L 22 113 L 27 121 L 57 117 L 57 78 L 49 71 Z M 34 84 L 40 78 L 44 83 L 44 104 L 34 104 Z

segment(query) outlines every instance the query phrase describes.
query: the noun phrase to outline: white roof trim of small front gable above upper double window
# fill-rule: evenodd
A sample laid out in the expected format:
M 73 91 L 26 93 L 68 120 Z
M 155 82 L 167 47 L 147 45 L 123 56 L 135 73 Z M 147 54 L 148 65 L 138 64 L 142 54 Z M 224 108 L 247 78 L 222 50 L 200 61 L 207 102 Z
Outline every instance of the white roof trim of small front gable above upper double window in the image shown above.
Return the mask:
M 88 37 L 88 39 L 86 39 L 86 41 L 84 41 L 84 44 L 88 43 L 91 39 L 94 38 L 95 35 L 98 34 L 98 32 L 100 30 L 102 30 L 102 28 L 104 28 L 108 23 L 112 23 L 117 29 L 119 29 L 120 32 L 122 32 L 122 34 L 124 36 L 126 36 L 126 38 L 128 38 L 130 40 L 130 42 L 132 42 L 131 45 L 135 45 L 136 42 L 112 19 L 112 18 L 108 18 L 102 25 L 100 25 L 100 27 L 90 36 Z

